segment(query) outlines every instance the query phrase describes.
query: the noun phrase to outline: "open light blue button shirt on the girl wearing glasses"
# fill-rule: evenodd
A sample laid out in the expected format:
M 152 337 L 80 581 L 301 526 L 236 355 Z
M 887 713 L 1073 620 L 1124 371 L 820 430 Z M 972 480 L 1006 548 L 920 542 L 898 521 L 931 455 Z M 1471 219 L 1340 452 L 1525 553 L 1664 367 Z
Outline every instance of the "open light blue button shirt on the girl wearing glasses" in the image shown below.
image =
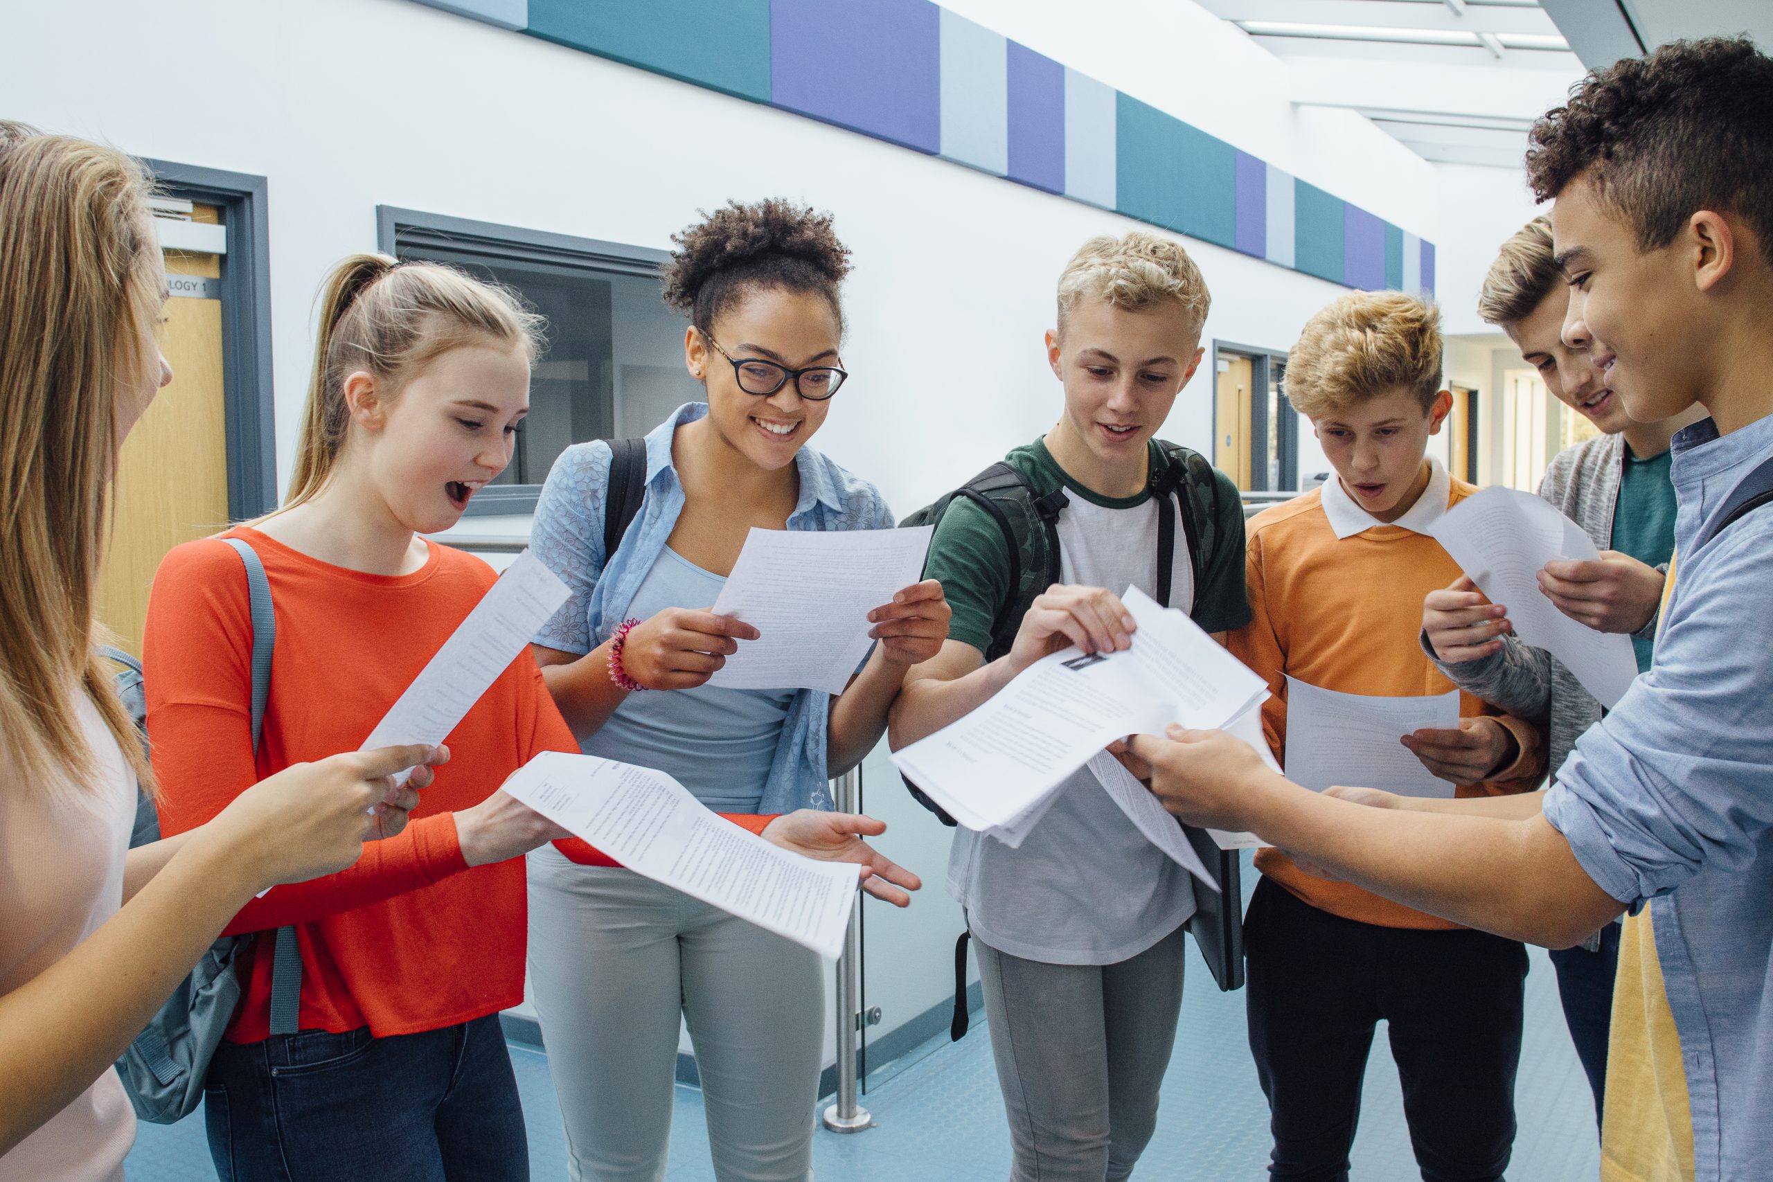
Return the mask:
M 683 512 L 684 494 L 672 466 L 672 436 L 707 415 L 706 402 L 688 402 L 647 434 L 645 498 L 615 555 L 603 553 L 603 514 L 610 493 L 610 447 L 576 443 L 560 454 L 530 528 L 530 549 L 567 588 L 567 601 L 535 633 L 535 643 L 564 652 L 590 652 L 628 618 L 635 592 L 665 549 Z M 879 491 L 810 447 L 794 454 L 800 502 L 791 530 L 886 530 L 892 510 Z M 807 604 L 808 611 L 817 604 Z M 800 689 L 782 723 L 759 813 L 832 808 L 826 785 L 824 728 L 832 695 Z

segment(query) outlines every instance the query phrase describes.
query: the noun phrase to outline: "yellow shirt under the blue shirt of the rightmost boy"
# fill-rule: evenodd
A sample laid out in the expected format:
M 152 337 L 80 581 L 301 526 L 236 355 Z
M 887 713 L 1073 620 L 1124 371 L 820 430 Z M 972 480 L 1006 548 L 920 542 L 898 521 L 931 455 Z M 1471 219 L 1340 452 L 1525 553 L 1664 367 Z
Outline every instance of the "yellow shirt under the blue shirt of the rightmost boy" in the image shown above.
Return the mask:
M 1663 581 L 1663 618 L 1674 560 Z M 1601 1182 L 1693 1182 L 1693 1109 L 1651 913 L 1626 918 L 1601 1115 Z

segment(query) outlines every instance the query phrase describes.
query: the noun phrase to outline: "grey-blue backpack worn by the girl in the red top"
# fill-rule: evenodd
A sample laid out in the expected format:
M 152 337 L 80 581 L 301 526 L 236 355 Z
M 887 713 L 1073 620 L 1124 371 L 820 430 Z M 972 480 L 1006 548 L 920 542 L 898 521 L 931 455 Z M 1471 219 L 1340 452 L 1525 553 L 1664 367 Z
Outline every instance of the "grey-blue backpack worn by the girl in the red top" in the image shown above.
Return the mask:
M 277 647 L 277 618 L 271 613 L 271 583 L 264 578 L 264 564 L 252 546 L 236 539 L 222 539 L 234 548 L 246 567 L 246 592 L 252 611 L 252 750 L 259 751 L 259 734 L 264 728 L 264 702 L 271 689 L 271 652 Z M 142 730 L 147 743 L 147 702 L 142 695 L 142 665 L 115 650 L 106 656 L 124 665 L 115 686 L 124 707 Z M 137 835 L 131 845 L 160 840 L 158 819 L 144 824 L 142 810 L 152 817 L 152 801 L 144 796 L 137 806 Z M 135 1115 L 158 1125 L 170 1125 L 190 1116 L 204 1099 L 204 1076 L 209 1060 L 222 1044 L 234 1008 L 239 1005 L 239 976 L 234 962 L 241 950 L 257 941 L 259 932 L 223 936 L 209 946 L 191 975 L 179 982 L 147 1028 L 135 1037 L 129 1049 L 117 1060 L 117 1074 L 129 1092 Z M 301 952 L 296 948 L 296 929 L 277 929 L 271 960 L 271 1033 L 293 1035 L 298 1028 L 301 1001 Z

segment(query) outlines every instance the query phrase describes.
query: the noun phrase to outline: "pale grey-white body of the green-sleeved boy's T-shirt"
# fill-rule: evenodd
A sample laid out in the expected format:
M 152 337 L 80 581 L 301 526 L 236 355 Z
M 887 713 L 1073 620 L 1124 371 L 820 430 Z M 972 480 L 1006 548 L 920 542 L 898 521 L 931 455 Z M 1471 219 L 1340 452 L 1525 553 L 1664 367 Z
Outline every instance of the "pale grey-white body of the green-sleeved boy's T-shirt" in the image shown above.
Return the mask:
M 1067 487 L 1058 516 L 1058 567 L 1066 583 L 1128 585 L 1158 594 L 1158 510 L 1175 498 L 1145 496 L 1131 507 L 1092 502 Z M 1124 505 L 1124 502 L 1122 502 Z M 1193 562 L 1181 521 L 1170 604 L 1195 603 Z M 1193 879 L 1133 826 L 1096 782 L 1076 771 L 1039 826 L 1011 849 L 956 829 L 949 893 L 966 907 L 973 936 L 991 948 L 1046 964 L 1119 964 L 1145 952 L 1195 913 Z

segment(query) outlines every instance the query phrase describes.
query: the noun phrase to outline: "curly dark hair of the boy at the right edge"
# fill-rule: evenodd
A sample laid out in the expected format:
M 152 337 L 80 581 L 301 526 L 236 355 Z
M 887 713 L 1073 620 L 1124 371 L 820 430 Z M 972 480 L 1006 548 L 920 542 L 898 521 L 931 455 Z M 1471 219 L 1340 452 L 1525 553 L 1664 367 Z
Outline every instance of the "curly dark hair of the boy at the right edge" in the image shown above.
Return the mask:
M 1773 257 L 1773 58 L 1748 37 L 1670 41 L 1596 69 L 1530 140 L 1539 200 L 1587 174 L 1644 250 L 1714 209 L 1746 222 Z

